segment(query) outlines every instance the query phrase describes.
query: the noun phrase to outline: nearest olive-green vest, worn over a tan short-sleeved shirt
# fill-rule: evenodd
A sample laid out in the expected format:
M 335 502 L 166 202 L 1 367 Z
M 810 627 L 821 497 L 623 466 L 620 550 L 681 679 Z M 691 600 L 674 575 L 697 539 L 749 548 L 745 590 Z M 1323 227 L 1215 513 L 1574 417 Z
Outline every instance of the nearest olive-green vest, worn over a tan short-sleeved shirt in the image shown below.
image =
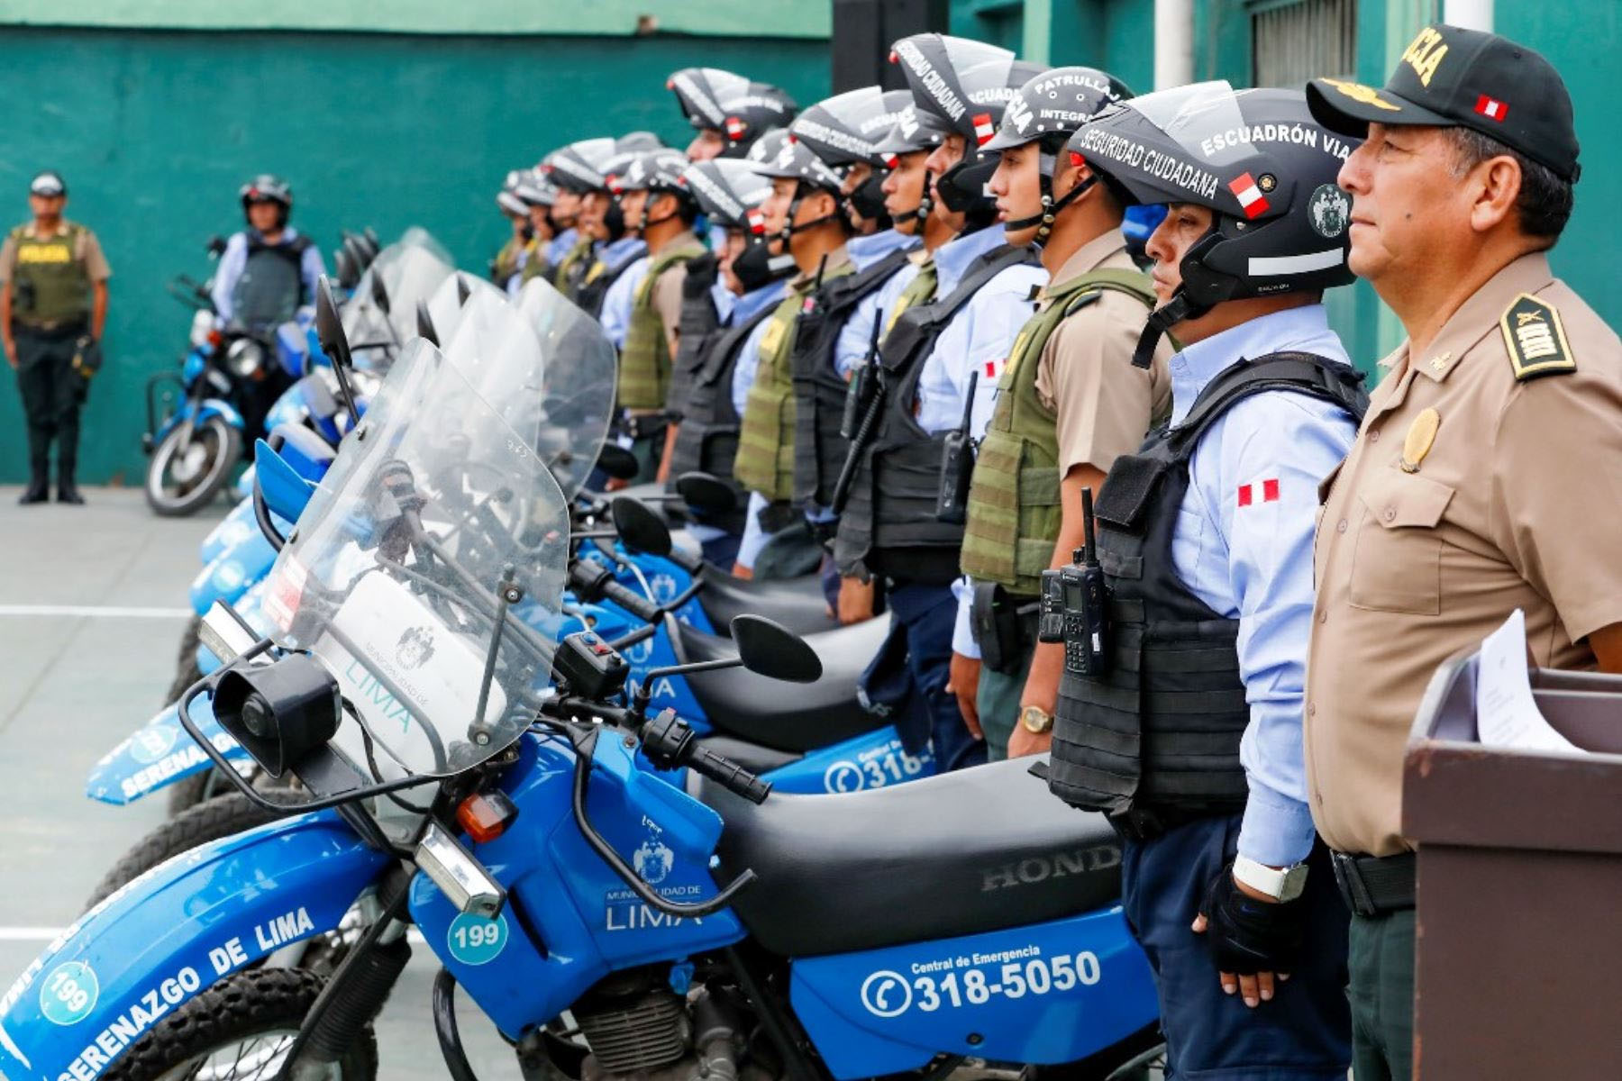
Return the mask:
M 1001 582 L 1015 596 L 1041 593 L 1041 572 L 1059 538 L 1058 417 L 1036 394 L 1041 350 L 1059 323 L 1113 288 L 1155 306 L 1148 279 L 1137 271 L 1092 271 L 1046 295 L 1014 339 L 998 381 L 998 404 L 975 459 L 963 528 L 963 574 Z

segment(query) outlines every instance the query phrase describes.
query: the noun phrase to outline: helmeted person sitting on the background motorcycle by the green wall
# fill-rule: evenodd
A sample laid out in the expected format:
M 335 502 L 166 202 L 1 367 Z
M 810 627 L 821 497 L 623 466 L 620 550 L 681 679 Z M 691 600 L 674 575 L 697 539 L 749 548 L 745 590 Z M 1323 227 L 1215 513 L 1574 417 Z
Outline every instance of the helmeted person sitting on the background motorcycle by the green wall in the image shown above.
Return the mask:
M 326 263 L 315 241 L 287 224 L 292 185 L 260 173 L 238 194 L 248 227 L 225 241 L 209 295 L 222 324 L 272 327 L 315 303 L 315 284 L 326 274 Z

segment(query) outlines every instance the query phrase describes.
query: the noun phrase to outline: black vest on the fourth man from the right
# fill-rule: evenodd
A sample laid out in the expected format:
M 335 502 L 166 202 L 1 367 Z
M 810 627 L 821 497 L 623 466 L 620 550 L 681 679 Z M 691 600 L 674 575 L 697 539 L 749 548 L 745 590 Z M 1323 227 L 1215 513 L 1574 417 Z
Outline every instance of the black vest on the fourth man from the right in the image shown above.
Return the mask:
M 902 582 L 942 585 L 957 577 L 963 527 L 934 517 L 946 433 L 931 434 L 913 418 L 918 379 L 952 316 L 1007 267 L 1035 263 L 1033 248 L 998 245 L 968 266 L 950 295 L 908 308 L 884 335 L 879 363 L 887 395 L 839 520 L 834 559 L 842 574 L 861 564 Z

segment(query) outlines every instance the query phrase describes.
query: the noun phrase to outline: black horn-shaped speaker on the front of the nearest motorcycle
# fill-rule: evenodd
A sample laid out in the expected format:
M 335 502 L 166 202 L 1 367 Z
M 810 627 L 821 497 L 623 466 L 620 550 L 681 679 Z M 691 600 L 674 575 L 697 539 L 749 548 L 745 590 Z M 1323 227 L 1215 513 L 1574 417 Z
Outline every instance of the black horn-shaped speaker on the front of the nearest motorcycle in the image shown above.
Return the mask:
M 214 687 L 214 718 L 281 778 L 337 733 L 342 695 L 316 660 L 290 653 L 263 668 L 227 669 Z

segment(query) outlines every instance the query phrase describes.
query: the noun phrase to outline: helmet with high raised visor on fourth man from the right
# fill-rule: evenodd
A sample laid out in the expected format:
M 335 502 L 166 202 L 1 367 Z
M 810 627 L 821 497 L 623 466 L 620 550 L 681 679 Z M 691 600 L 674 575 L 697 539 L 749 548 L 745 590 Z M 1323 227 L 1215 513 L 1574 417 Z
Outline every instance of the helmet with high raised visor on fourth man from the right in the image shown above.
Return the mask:
M 890 47 L 890 58 L 902 65 L 918 110 L 934 113 L 963 136 L 963 159 L 936 182 L 941 201 L 975 224 L 989 222 L 996 201 L 986 194 L 986 183 L 998 169 L 998 154 L 985 146 L 996 136 L 1009 100 L 1046 68 L 1017 60 L 1007 49 L 946 34 L 902 37 Z

